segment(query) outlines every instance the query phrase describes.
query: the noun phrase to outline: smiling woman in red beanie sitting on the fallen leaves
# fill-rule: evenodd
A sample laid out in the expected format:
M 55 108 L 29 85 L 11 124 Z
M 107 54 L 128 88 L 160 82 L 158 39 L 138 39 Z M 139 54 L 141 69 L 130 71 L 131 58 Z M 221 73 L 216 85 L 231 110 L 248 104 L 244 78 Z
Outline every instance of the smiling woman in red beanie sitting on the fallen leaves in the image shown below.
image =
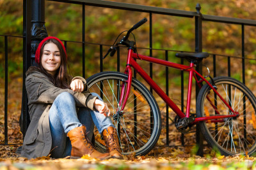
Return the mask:
M 29 67 L 26 73 L 31 123 L 21 156 L 79 158 L 88 154 L 101 160 L 122 159 L 108 105 L 97 94 L 90 94 L 84 78 L 67 74 L 67 53 L 60 39 L 43 39 L 35 61 L 38 67 Z M 90 142 L 94 125 L 109 153 L 97 152 Z

